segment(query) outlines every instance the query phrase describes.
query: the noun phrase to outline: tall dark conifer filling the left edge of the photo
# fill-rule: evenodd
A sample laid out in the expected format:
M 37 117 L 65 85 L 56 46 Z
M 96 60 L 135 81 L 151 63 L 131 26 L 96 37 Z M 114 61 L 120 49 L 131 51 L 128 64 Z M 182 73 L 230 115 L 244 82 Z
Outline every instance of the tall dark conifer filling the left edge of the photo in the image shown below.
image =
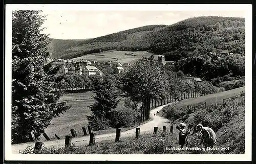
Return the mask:
M 52 118 L 69 109 L 52 93 L 57 68 L 45 65 L 49 38 L 41 34 L 40 11 L 12 13 L 12 143 L 38 138 Z

